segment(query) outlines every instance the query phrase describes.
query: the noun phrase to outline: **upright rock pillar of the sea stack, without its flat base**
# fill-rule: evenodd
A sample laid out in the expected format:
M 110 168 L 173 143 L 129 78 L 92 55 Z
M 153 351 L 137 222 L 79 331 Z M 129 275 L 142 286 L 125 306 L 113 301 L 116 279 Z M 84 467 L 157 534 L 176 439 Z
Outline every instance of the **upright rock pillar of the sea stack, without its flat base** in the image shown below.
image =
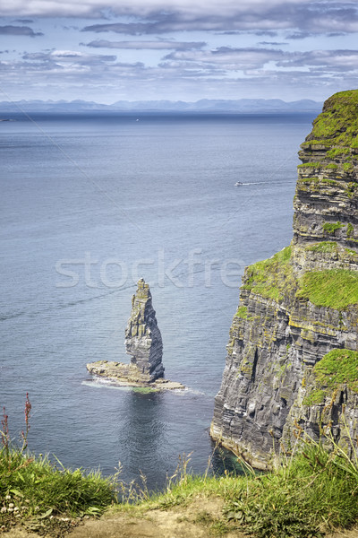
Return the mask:
M 149 284 L 138 282 L 132 297 L 132 312 L 125 328 L 125 349 L 131 355 L 131 364 L 151 383 L 163 377 L 163 343 L 156 312 L 151 302 Z

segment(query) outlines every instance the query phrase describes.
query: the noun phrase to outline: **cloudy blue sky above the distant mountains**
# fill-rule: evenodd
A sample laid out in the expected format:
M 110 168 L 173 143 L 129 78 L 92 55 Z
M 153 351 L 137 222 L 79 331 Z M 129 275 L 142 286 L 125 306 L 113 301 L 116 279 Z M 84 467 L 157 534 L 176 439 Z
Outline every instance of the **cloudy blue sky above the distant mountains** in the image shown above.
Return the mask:
M 0 100 L 325 100 L 358 1 L 0 0 Z

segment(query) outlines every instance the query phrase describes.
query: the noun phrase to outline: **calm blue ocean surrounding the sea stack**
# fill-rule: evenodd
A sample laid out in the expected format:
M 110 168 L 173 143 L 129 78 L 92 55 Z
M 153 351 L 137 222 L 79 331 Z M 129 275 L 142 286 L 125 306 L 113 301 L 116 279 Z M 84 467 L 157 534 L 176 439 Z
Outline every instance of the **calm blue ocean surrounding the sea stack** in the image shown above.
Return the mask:
M 292 239 L 299 144 L 313 115 L 25 117 L 0 123 L 0 405 L 11 436 L 72 468 L 123 467 L 160 489 L 178 457 L 212 459 L 214 396 L 245 265 Z M 235 183 L 243 185 L 235 187 Z M 149 282 L 166 377 L 145 394 L 93 380 L 129 361 L 124 328 Z

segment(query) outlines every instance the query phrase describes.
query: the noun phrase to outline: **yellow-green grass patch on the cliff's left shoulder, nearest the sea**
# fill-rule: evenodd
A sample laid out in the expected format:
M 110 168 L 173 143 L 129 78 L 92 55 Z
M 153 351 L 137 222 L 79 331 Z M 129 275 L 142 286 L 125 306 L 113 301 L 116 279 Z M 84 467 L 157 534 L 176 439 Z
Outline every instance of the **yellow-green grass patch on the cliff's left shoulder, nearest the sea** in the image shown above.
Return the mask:
M 250 265 L 245 273 L 243 290 L 251 290 L 267 299 L 283 300 L 294 282 L 290 265 L 291 247 L 286 247 L 275 256 Z

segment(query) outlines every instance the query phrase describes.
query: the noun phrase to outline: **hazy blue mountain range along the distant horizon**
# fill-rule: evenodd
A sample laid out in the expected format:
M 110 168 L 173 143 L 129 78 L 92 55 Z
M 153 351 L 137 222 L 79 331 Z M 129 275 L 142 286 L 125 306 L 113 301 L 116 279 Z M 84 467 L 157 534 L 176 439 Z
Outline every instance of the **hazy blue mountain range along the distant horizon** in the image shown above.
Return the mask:
M 210 100 L 202 99 L 196 102 L 148 100 L 126 101 L 119 100 L 112 105 L 103 105 L 86 100 L 19 100 L 0 102 L 0 115 L 19 112 L 52 112 L 55 114 L 83 112 L 125 112 L 125 113 L 236 113 L 236 114 L 268 114 L 268 113 L 318 113 L 322 103 L 313 100 L 296 100 L 286 102 L 279 99 L 239 99 L 239 100 Z

